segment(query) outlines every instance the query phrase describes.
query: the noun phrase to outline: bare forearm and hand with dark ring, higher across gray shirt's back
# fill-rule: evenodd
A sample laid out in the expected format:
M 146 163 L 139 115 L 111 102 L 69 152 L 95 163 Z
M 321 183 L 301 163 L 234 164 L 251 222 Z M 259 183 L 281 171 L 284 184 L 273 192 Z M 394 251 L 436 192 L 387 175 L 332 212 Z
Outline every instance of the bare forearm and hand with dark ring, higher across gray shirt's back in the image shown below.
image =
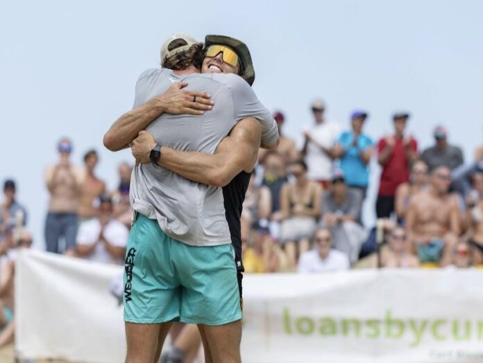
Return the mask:
M 164 94 L 149 100 L 122 115 L 105 133 L 103 143 L 111 151 L 127 148 L 139 133 L 164 112 L 168 114 L 201 115 L 213 102 L 205 92 L 182 90 L 186 82 L 174 83 Z M 193 102 L 196 96 L 196 102 Z

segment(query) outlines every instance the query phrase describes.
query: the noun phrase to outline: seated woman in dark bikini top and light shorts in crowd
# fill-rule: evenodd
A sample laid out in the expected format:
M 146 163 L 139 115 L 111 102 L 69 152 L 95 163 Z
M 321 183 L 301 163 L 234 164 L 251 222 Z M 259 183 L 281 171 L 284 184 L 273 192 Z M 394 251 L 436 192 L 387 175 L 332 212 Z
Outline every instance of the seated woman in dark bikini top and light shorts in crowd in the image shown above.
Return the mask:
M 310 247 L 310 238 L 321 211 L 322 188 L 307 179 L 307 165 L 298 160 L 291 166 L 295 181 L 282 187 L 280 206 L 282 227 L 280 241 L 285 246 L 289 265 L 295 269 L 297 256 Z

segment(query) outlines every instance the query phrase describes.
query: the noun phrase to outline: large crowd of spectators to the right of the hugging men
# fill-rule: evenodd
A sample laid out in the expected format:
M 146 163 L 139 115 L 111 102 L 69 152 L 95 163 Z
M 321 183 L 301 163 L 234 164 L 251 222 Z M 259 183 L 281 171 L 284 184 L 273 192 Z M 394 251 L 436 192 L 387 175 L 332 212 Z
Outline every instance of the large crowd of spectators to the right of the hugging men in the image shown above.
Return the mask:
M 392 115 L 393 133 L 373 141 L 368 112 L 349 130 L 312 105 L 314 125 L 298 150 L 281 133 L 276 152 L 260 150 L 244 204 L 246 272 L 323 272 L 358 267 L 477 267 L 483 263 L 483 148 L 464 164 L 448 132 L 420 150 L 407 134 L 408 112 Z M 377 222 L 362 224 L 371 159 L 381 167 Z M 254 172 L 255 174 L 255 172 Z

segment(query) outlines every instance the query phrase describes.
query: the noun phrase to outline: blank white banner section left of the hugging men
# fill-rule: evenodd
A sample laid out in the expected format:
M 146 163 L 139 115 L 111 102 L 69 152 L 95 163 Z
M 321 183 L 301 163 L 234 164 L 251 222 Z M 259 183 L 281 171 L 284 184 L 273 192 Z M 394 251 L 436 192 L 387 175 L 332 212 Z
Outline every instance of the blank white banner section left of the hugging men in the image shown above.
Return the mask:
M 122 306 L 110 293 L 122 267 L 21 251 L 15 265 L 15 351 L 21 357 L 124 362 Z

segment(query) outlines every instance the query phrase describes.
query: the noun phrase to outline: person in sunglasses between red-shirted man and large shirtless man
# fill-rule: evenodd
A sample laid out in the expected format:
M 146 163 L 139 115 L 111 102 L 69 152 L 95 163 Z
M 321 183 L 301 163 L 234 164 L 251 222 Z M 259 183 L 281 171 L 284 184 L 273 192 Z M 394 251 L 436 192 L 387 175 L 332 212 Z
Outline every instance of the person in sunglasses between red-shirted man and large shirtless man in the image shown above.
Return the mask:
M 396 217 L 404 224 L 407 206 L 411 197 L 427 187 L 427 165 L 422 160 L 414 162 L 409 175 L 409 182 L 401 184 L 396 189 Z

